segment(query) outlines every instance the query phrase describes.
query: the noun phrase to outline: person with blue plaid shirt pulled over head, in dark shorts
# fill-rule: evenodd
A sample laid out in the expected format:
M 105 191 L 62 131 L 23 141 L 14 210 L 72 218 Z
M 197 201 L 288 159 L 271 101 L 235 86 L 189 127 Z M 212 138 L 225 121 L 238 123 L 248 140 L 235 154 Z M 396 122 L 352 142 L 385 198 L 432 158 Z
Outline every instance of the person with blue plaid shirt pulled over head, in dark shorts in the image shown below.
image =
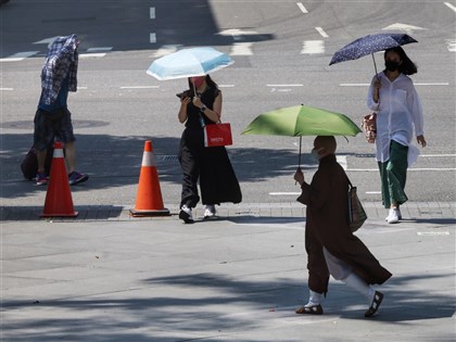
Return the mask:
M 76 35 L 59 37 L 49 48 L 41 71 L 41 96 L 35 114 L 34 147 L 37 150 L 37 185 L 48 183 L 45 172 L 47 147 L 54 139 L 64 143 L 68 164 L 68 182 L 76 185 L 89 176 L 75 170 L 75 141 L 72 114 L 66 100 L 68 91 L 77 90 L 77 65 L 79 40 Z

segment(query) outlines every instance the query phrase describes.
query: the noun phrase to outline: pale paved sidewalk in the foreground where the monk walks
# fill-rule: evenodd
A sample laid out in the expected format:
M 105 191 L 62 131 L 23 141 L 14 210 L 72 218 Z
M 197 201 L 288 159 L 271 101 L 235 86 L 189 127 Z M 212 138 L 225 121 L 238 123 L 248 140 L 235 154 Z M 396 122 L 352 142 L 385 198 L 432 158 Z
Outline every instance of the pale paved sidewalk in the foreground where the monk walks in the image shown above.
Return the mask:
M 408 203 L 397 225 L 366 207 L 357 236 L 393 273 L 372 318 L 332 279 L 325 315 L 294 314 L 307 300 L 299 204 L 224 205 L 193 225 L 122 206 L 76 219 L 3 207 L 0 340 L 454 341 L 454 203 Z

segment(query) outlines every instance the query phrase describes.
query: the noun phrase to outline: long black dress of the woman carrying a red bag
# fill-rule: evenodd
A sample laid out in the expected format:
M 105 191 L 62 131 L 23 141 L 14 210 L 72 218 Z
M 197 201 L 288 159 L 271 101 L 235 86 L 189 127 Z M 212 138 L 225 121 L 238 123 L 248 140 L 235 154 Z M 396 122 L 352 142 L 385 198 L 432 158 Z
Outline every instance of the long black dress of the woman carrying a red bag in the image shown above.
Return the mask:
M 190 97 L 192 96 L 192 91 L 187 90 L 187 92 Z M 201 94 L 201 101 L 212 110 L 218 93 L 217 88 L 207 88 Z M 213 122 L 192 102 L 187 106 L 187 117 L 179 147 L 179 163 L 183 174 L 180 205 L 197 206 L 200 201 L 198 180 L 200 180 L 203 204 L 241 202 L 241 189 L 227 150 L 225 147 L 204 147 L 202 121 L 204 124 L 213 124 Z

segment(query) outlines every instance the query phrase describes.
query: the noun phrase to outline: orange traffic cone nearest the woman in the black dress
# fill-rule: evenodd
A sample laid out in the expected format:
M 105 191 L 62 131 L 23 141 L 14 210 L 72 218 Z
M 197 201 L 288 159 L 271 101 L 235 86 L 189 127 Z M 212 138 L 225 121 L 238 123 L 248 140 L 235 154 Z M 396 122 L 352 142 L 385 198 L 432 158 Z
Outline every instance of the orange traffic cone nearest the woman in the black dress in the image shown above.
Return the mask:
M 163 206 L 162 191 L 160 190 L 156 163 L 152 153 L 152 141 L 144 143 L 141 173 L 139 175 L 138 193 L 135 208 L 130 210 L 132 216 L 168 216 L 169 211 Z

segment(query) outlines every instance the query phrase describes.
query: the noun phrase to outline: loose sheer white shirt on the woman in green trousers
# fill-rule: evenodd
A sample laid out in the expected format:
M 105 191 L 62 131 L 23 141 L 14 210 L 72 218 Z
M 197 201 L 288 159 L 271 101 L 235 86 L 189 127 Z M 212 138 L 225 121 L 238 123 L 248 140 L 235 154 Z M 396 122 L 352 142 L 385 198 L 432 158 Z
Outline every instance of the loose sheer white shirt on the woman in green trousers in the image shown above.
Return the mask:
M 388 162 L 390 160 L 390 142 L 394 140 L 408 147 L 408 165 L 411 165 L 419 152 L 411 143 L 414 127 L 416 136 L 423 135 L 422 105 L 415 89 L 413 80 L 404 75 L 391 81 L 382 72 L 378 74 L 381 80 L 380 106 L 373 101 L 373 76 L 367 96 L 367 106 L 377 111 L 376 160 Z

